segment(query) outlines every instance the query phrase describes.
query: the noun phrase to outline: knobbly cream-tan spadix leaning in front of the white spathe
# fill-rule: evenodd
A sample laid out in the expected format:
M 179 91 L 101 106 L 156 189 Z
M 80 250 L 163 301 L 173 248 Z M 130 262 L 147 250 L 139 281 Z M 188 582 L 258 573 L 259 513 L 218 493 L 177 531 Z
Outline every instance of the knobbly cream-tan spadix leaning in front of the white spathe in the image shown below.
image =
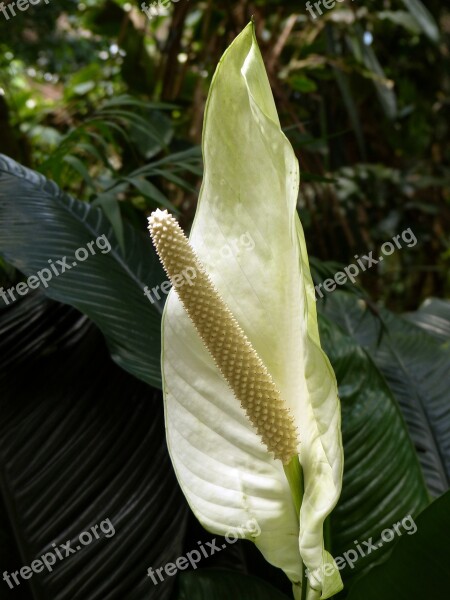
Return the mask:
M 148 222 L 163 267 L 214 362 L 267 449 L 275 458 L 289 463 L 298 454 L 298 432 L 266 366 L 177 221 L 167 210 L 156 210 Z M 187 269 L 193 274 L 190 285 L 180 277 Z

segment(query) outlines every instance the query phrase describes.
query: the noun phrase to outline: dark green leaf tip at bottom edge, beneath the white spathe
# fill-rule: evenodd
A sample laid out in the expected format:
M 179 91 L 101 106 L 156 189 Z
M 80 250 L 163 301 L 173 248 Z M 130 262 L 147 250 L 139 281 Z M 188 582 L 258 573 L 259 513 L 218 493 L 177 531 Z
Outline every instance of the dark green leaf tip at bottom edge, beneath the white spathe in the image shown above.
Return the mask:
M 289 600 L 274 587 L 235 571 L 202 569 L 180 573 L 176 600 Z

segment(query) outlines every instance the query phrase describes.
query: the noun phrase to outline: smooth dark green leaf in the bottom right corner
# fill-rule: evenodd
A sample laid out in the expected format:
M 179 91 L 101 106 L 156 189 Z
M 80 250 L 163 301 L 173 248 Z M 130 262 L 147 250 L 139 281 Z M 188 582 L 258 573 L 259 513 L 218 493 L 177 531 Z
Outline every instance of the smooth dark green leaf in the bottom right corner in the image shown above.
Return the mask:
M 450 587 L 450 491 L 430 504 L 415 523 L 417 531 L 402 535 L 390 559 L 358 580 L 348 600 L 446 596 Z

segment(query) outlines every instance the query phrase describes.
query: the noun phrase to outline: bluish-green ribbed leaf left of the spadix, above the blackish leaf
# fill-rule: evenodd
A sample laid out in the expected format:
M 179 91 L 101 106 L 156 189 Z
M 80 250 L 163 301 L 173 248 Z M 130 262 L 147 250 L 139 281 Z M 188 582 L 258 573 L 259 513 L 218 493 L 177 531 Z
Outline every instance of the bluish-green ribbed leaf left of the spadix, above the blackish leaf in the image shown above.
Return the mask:
M 109 241 L 110 252 L 102 253 L 94 244 L 94 255 L 75 260 L 79 248 L 87 249 L 101 236 Z M 144 287 L 151 289 L 164 276 L 143 234 L 125 225 L 124 243 L 125 252 L 100 209 L 0 155 L 0 254 L 27 276 L 42 269 L 51 273 L 53 261 L 59 275 L 53 275 L 48 287 L 41 285 L 42 291 L 88 315 L 104 333 L 117 364 L 159 387 L 163 301 L 151 303 Z M 107 250 L 103 241 L 99 245 Z M 70 270 L 61 273 L 57 261 L 63 257 Z

